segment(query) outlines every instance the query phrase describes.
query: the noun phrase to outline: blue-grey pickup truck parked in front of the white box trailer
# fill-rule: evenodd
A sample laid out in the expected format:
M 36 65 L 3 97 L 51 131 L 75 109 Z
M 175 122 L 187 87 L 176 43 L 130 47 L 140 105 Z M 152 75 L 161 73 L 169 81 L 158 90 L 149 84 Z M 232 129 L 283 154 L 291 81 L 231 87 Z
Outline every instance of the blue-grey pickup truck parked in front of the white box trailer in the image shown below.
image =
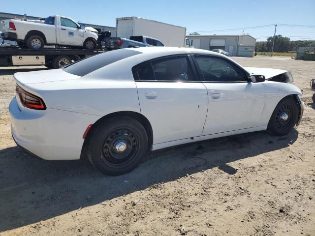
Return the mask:
M 105 39 L 105 48 L 109 50 L 150 46 L 164 47 L 164 44 L 158 39 L 148 36 L 130 36 L 129 39 L 108 37 Z

